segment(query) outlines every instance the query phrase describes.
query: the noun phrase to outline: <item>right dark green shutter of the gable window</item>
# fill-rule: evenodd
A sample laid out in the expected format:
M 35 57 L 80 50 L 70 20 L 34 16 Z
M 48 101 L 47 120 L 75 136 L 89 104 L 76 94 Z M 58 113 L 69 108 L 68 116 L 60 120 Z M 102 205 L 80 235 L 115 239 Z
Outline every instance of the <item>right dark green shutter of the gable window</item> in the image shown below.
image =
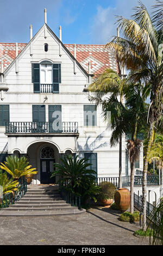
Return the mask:
M 59 93 L 59 83 L 61 83 L 61 64 L 53 64 L 53 93 Z

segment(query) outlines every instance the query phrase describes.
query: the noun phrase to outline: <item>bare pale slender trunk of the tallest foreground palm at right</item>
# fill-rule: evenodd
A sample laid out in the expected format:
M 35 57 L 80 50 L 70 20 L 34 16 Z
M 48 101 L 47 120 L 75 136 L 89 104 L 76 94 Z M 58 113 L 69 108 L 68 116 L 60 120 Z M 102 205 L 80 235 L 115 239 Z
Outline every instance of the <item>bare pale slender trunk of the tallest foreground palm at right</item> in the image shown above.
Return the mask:
M 142 184 L 142 194 L 143 194 L 143 231 L 146 231 L 147 225 L 147 217 L 146 217 L 146 209 L 147 209 L 147 169 L 148 169 L 148 160 L 149 160 L 149 153 L 151 151 L 152 142 L 153 142 L 153 132 L 154 129 L 152 128 L 151 136 L 149 137 L 147 152 L 145 156 L 144 168 L 143 168 L 143 184 Z

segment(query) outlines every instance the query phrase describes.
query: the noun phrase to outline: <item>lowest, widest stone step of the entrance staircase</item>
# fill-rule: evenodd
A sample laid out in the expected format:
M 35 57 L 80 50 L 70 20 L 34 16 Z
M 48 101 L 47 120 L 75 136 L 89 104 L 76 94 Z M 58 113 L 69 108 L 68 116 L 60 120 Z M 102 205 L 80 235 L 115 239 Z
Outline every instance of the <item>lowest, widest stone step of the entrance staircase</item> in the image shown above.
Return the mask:
M 0 217 L 42 217 L 42 216 L 59 216 L 59 215 L 71 215 L 71 214 L 82 214 L 86 210 L 85 209 L 66 209 L 65 211 L 0 211 Z

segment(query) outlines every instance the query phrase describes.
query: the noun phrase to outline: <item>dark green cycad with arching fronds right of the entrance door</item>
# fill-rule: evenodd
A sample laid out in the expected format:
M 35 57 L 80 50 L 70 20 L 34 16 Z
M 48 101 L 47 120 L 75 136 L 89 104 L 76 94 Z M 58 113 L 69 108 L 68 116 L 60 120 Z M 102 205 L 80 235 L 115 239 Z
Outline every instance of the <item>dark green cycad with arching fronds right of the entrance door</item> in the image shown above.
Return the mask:
M 96 172 L 89 169 L 89 166 L 91 164 L 87 163 L 86 159 L 65 155 L 61 159 L 61 164 L 54 164 L 56 170 L 54 170 L 51 177 L 59 175 L 58 183 L 63 185 L 64 182 L 68 181 L 68 189 L 72 193 L 80 194 L 81 188 L 85 187 L 86 182 L 95 182 Z

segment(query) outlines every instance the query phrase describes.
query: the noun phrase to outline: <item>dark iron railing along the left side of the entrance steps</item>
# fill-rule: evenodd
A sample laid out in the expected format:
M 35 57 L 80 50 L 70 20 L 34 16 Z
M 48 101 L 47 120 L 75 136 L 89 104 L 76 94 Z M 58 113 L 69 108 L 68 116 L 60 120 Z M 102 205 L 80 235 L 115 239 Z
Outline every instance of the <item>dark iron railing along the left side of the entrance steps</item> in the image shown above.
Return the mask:
M 19 201 L 24 194 L 27 192 L 27 180 L 25 178 L 20 178 L 18 180 L 18 187 L 16 191 L 12 193 L 7 193 L 0 198 L 0 208 L 7 208 L 10 204 L 15 204 L 16 201 Z

